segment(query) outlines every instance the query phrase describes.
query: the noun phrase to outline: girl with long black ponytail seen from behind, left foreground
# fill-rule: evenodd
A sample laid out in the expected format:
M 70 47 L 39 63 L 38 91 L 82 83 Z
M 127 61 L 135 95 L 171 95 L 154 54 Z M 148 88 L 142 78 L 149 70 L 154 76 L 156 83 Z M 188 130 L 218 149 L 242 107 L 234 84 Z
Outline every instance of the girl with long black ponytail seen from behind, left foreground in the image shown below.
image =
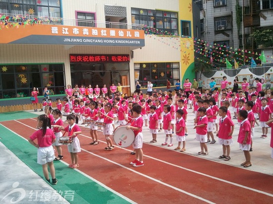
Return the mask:
M 55 177 L 55 168 L 53 163 L 55 156 L 52 147 L 52 143 L 56 141 L 56 137 L 54 135 L 54 132 L 50 129 L 50 126 L 50 119 L 47 115 L 44 114 L 38 116 L 37 127 L 40 129 L 30 136 L 28 142 L 34 147 L 38 148 L 37 163 L 42 164 L 43 173 L 46 180 L 50 183 L 48 172 L 49 165 L 50 174 L 52 177 L 52 184 L 56 185 L 58 181 Z M 35 139 L 37 139 L 38 144 L 33 142 Z

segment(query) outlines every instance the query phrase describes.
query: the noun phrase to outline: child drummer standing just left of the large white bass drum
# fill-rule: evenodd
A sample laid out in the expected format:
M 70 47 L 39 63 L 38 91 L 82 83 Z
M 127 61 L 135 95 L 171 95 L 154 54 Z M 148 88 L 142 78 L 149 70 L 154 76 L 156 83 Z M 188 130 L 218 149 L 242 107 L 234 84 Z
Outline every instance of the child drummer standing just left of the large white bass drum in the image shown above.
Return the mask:
M 107 143 L 107 147 L 104 148 L 104 150 L 107 150 L 107 151 L 114 150 L 114 148 L 115 148 L 113 145 L 113 142 L 110 138 L 110 136 L 113 135 L 113 131 L 114 131 L 114 128 L 112 125 L 112 122 L 114 120 L 114 115 L 113 115 L 111 109 L 112 109 L 112 105 L 110 102 L 108 102 L 104 105 L 105 113 L 100 112 L 100 111 L 98 112 L 99 117 L 101 117 L 101 115 L 104 116 L 105 127 L 103 129 L 103 134 L 105 135 L 105 140 Z

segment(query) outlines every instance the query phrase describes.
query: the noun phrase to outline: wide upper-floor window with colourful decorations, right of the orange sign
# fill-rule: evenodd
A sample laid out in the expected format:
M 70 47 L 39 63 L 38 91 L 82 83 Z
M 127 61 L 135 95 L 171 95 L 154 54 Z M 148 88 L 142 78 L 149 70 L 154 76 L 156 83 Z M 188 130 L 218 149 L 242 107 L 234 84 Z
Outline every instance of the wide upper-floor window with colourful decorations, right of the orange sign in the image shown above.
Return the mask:
M 132 8 L 132 23 L 144 25 L 145 34 L 178 35 L 178 13 Z M 149 27 L 148 30 L 146 27 Z M 156 31 L 156 29 L 159 29 Z

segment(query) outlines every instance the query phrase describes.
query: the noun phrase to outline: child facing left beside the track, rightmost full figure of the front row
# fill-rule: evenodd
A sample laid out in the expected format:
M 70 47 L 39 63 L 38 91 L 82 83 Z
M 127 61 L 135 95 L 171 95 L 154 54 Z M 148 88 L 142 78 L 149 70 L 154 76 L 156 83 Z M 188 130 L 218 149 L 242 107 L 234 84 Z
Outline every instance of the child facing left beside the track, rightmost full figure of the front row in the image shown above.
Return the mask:
M 238 112 L 238 118 L 242 121 L 240 125 L 239 135 L 238 135 L 238 143 L 239 147 L 242 151 L 244 151 L 246 161 L 241 163 L 241 166 L 250 167 L 251 164 L 251 156 L 250 156 L 250 145 L 251 145 L 251 126 L 250 122 L 247 119 L 247 111 L 240 110 Z

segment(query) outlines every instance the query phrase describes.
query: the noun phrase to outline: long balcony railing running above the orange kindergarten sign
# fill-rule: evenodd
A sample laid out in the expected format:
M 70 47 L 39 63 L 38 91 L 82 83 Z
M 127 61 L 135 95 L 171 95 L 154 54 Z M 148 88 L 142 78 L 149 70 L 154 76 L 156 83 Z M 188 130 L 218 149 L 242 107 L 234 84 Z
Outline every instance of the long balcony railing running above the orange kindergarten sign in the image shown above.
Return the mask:
M 5 23 L 19 23 L 23 24 L 33 23 L 33 24 L 49 24 L 49 25 L 67 25 L 67 26 L 82 26 L 82 27 L 97 27 L 97 28 L 116 28 L 116 29 L 128 29 L 128 30 L 143 30 L 143 25 L 141 24 L 129 24 L 129 23 L 119 23 L 119 22 L 100 22 L 94 20 L 82 20 L 82 19 L 72 19 L 72 18 L 56 18 L 47 16 L 33 16 L 33 15 L 17 15 L 10 13 L 0 13 L 0 15 L 5 15 Z

